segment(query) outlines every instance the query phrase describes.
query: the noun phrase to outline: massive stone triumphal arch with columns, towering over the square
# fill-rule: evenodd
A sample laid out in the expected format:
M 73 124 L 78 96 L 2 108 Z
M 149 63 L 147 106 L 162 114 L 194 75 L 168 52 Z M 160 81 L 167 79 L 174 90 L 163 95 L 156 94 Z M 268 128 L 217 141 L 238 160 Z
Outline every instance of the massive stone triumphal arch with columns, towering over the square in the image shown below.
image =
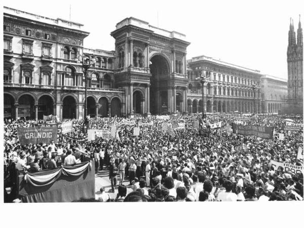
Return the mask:
M 185 35 L 130 17 L 111 32 L 115 38 L 116 87 L 124 88 L 127 114 L 187 112 Z

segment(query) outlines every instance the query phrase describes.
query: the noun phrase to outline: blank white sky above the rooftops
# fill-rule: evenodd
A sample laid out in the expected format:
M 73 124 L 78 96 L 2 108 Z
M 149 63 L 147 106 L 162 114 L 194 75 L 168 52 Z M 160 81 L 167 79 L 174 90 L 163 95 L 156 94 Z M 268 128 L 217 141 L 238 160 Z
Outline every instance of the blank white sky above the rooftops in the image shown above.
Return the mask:
M 304 1 L 16 1 L 5 6 L 84 24 L 86 48 L 115 50 L 110 32 L 126 17 L 178 31 L 191 42 L 187 59 L 205 55 L 287 79 L 290 17 L 304 26 Z

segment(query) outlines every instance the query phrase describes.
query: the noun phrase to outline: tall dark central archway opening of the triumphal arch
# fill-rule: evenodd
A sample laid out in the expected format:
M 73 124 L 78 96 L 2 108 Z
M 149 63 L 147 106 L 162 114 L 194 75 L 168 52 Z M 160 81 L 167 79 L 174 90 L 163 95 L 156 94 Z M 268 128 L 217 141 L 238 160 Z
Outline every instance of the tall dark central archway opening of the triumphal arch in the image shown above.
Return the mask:
M 151 114 L 171 113 L 173 110 L 168 103 L 168 78 L 170 74 L 169 64 L 161 55 L 150 59 L 150 94 L 149 104 Z M 171 90 L 169 90 L 171 93 Z M 134 103 L 133 103 L 134 104 Z

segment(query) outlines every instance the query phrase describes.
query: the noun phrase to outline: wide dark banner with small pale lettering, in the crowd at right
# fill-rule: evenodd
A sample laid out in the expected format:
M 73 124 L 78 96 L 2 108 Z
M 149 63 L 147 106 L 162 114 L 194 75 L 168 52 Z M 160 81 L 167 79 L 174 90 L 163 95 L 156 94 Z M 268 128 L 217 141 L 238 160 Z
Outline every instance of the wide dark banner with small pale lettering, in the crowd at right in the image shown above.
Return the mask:
M 273 132 L 274 132 L 274 127 L 237 125 L 238 134 L 253 135 L 263 139 L 272 139 Z

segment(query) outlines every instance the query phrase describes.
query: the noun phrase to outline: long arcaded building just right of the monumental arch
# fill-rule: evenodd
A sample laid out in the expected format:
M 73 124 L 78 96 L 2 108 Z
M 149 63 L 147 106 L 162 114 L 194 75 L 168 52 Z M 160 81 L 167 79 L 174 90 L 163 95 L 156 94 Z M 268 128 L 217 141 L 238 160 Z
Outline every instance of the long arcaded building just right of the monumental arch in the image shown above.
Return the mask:
M 262 74 L 258 70 L 225 63 L 206 56 L 194 57 L 188 60 L 187 64 L 188 113 L 200 113 L 202 107 L 207 113 L 261 112 L 260 77 Z M 201 75 L 206 77 L 203 106 Z M 254 92 L 255 97 L 253 97 Z

